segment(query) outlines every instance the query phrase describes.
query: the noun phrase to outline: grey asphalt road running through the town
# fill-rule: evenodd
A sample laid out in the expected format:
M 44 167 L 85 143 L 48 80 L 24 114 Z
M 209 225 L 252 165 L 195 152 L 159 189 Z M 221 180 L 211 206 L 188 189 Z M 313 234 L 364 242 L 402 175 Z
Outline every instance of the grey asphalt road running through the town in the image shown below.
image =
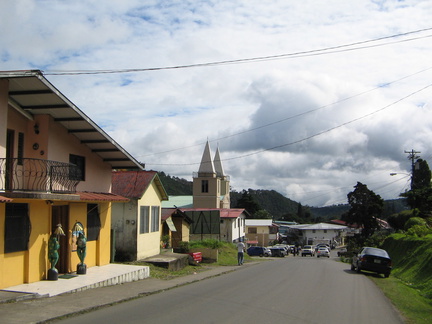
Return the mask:
M 367 276 L 336 260 L 261 262 L 60 323 L 403 323 Z

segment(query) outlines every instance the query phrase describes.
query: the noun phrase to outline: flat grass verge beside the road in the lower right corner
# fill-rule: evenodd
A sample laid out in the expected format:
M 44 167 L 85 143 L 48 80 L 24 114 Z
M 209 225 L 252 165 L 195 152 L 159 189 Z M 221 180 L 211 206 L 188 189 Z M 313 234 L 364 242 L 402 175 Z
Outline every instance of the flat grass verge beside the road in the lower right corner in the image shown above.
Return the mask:
M 410 324 L 431 322 L 432 301 L 394 276 L 383 279 L 369 276 Z

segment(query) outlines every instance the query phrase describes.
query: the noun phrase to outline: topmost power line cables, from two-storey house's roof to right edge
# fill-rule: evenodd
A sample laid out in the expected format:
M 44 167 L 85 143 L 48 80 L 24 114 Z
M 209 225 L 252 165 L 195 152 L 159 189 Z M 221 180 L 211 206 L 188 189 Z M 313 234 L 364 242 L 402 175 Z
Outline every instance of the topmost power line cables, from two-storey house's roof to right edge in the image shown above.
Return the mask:
M 400 33 L 400 34 L 395 34 L 395 35 L 390 35 L 390 36 L 379 37 L 379 38 L 360 41 L 360 42 L 331 46 L 331 47 L 326 47 L 326 48 L 322 48 L 322 49 L 300 51 L 300 52 L 294 52 L 294 53 L 285 53 L 285 54 L 279 54 L 279 55 L 259 56 L 259 57 L 243 58 L 243 59 L 235 59 L 235 60 L 225 60 L 225 61 L 215 61 L 215 62 L 207 62 L 207 63 L 165 66 L 165 67 L 142 68 L 142 69 L 133 68 L 133 69 L 109 69 L 109 70 L 46 70 L 46 71 L 44 71 L 44 74 L 45 75 L 83 75 L 83 74 L 88 75 L 88 74 L 137 73 L 137 72 L 149 72 L 149 71 L 161 71 L 161 70 L 186 69 L 186 68 L 195 68 L 195 67 L 208 67 L 208 66 L 218 66 L 218 65 L 228 65 L 228 64 L 254 63 L 254 62 L 262 62 L 262 61 L 278 60 L 278 59 L 287 59 L 287 58 L 300 58 L 300 57 L 307 57 L 307 56 L 326 55 L 326 54 L 354 51 L 354 50 L 366 49 L 366 48 L 372 48 L 372 47 L 386 46 L 386 45 L 408 42 L 408 41 L 415 41 L 418 39 L 432 37 L 432 35 L 413 37 L 413 38 L 409 38 L 409 39 L 405 39 L 405 40 L 387 42 L 384 44 L 375 44 L 375 45 L 368 45 L 368 46 L 360 46 L 359 47 L 359 45 L 364 45 L 364 44 L 379 42 L 379 41 L 388 40 L 388 39 L 392 39 L 392 38 L 418 34 L 418 33 L 430 31 L 430 30 L 432 30 L 432 27 L 424 28 L 424 29 L 418 29 L 418 30 L 414 30 L 414 31 L 406 32 L 406 33 Z M 357 46 L 357 47 L 354 47 L 354 46 Z M 350 48 L 350 47 L 354 47 L 354 48 Z

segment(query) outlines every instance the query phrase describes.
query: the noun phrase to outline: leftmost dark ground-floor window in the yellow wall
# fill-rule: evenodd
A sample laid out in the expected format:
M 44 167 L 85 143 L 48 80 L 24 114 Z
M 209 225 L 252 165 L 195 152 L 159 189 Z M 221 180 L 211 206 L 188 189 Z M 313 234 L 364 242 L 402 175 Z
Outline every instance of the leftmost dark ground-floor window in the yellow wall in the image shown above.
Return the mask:
M 6 204 L 5 253 L 27 251 L 30 231 L 28 204 Z

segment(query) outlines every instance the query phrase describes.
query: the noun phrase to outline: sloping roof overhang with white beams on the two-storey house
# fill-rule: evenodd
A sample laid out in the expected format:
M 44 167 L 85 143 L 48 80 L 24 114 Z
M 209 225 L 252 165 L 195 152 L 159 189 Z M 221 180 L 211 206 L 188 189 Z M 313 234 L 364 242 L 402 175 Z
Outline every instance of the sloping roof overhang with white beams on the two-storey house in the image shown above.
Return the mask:
M 15 109 L 29 116 L 50 115 L 113 169 L 143 169 L 143 165 L 57 90 L 41 71 L 0 71 L 0 79 L 9 80 L 9 104 Z

